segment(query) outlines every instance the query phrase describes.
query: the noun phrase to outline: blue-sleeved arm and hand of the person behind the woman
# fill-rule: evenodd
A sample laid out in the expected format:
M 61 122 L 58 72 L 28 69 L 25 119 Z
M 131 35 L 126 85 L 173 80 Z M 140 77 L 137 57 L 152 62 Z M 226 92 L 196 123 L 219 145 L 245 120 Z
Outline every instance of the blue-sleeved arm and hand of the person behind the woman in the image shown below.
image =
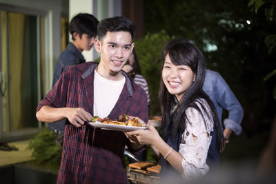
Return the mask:
M 228 118 L 224 119 L 224 137 L 229 139 L 232 132 L 236 135 L 242 133 L 244 110 L 226 81 L 219 73 L 216 74 L 215 98 L 219 105 L 228 111 Z

